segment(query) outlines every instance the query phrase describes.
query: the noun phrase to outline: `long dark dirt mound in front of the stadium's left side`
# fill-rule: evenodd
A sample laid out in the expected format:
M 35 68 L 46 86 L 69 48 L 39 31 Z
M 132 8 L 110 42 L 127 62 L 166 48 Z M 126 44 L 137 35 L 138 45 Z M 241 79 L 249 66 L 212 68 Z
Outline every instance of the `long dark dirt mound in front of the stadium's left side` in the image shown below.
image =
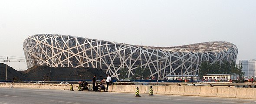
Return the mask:
M 90 80 L 94 75 L 97 79 L 106 78 L 106 74 L 97 68 L 53 68 L 48 66 L 33 66 L 21 71 L 26 80 L 56 81 L 56 80 Z

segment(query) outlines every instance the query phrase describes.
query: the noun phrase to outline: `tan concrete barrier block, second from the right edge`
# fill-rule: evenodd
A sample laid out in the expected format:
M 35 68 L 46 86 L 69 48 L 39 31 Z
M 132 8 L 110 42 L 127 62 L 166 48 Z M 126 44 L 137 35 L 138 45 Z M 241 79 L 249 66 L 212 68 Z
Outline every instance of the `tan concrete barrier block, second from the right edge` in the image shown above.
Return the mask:
M 216 97 L 236 97 L 237 88 L 218 88 Z

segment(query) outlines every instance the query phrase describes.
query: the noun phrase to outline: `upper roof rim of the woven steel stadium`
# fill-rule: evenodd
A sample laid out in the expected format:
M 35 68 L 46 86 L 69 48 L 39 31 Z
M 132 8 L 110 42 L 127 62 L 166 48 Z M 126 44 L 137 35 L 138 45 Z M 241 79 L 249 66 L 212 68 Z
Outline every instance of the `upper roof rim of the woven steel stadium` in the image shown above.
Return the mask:
M 36 34 L 33 36 L 39 36 L 39 35 L 46 35 L 46 36 L 51 36 L 51 37 L 56 37 L 56 36 L 69 36 L 71 38 L 83 38 L 83 37 L 78 37 L 78 36 L 70 36 L 70 35 L 59 35 L 59 34 Z M 31 38 L 33 36 L 30 36 L 28 38 Z M 48 37 L 48 38 L 49 38 Z M 33 39 L 33 38 L 31 38 Z M 89 39 L 86 38 L 85 39 Z M 92 40 L 98 40 L 98 39 L 92 39 Z M 119 42 L 109 42 L 109 41 L 105 41 L 105 40 L 98 40 L 98 41 L 103 41 L 103 42 L 108 42 L 108 43 L 116 43 L 116 44 L 121 44 L 121 45 L 128 45 L 128 46 L 135 46 L 135 47 L 141 47 L 141 48 L 145 48 L 145 49 L 159 49 L 159 50 L 173 50 L 173 51 L 183 51 L 183 52 L 220 52 L 220 51 L 225 51 L 228 50 L 230 48 L 234 48 L 236 50 L 237 47 L 231 43 L 231 42 L 225 42 L 225 41 L 212 41 L 212 42 L 200 42 L 200 43 L 194 43 L 194 44 L 190 44 L 190 45 L 183 45 L 183 46 L 170 46 L 170 47 L 154 47 L 154 46 L 139 46 L 139 45 L 131 45 L 131 44 L 125 44 L 125 43 L 119 43 Z

